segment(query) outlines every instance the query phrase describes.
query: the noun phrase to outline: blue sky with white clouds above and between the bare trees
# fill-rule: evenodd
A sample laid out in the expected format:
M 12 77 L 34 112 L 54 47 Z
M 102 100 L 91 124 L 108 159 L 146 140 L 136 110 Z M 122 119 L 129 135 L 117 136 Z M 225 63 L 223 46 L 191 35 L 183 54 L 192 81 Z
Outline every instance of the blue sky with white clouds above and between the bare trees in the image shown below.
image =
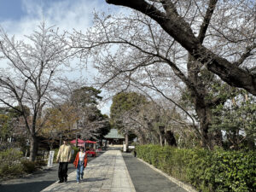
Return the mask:
M 124 9 L 109 5 L 105 0 L 0 0 L 0 26 L 10 36 L 21 39 L 31 34 L 42 20 L 48 26 L 55 25 L 61 30 L 72 31 L 74 28 L 85 31 L 93 24 L 94 11 L 113 13 Z M 67 77 L 82 76 L 92 81 L 95 73 L 95 69 L 88 66 L 82 71 L 78 69 L 67 73 Z M 102 104 L 102 113 L 109 113 L 109 106 L 110 102 Z

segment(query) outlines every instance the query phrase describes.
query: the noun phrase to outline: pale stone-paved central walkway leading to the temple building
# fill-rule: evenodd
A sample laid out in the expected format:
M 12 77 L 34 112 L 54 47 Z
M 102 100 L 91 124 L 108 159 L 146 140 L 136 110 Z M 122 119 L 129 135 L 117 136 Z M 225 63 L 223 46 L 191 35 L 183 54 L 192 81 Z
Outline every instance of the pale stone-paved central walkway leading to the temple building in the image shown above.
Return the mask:
M 79 192 L 136 192 L 119 150 L 108 150 L 92 160 L 84 169 L 84 180 L 76 182 L 76 172 L 68 175 L 67 183 L 54 183 L 42 190 Z

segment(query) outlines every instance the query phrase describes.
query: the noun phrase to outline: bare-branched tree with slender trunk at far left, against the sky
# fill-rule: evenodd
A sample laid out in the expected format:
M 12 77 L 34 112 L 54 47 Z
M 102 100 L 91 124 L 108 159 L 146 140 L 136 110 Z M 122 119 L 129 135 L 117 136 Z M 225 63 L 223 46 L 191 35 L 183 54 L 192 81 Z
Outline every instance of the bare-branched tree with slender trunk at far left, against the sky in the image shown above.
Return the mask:
M 65 34 L 43 22 L 37 31 L 22 40 L 9 38 L 3 28 L 0 38 L 1 59 L 8 65 L 0 67 L 0 102 L 22 115 L 30 140 L 30 160 L 33 161 L 38 150 L 38 131 L 44 125 L 42 111 L 48 104 L 47 96 L 55 90 L 61 67 L 68 66 Z M 26 114 L 24 106 L 30 108 L 30 115 Z

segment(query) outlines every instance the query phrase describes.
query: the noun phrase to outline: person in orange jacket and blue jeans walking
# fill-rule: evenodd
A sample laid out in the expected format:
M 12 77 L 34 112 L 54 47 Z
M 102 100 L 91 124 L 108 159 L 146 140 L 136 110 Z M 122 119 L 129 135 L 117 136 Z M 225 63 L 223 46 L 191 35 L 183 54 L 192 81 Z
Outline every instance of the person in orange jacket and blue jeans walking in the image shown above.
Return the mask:
M 87 166 L 87 153 L 84 152 L 84 147 L 80 147 L 73 165 L 77 168 L 77 183 L 80 183 L 80 180 L 83 180 L 84 177 L 84 168 Z

